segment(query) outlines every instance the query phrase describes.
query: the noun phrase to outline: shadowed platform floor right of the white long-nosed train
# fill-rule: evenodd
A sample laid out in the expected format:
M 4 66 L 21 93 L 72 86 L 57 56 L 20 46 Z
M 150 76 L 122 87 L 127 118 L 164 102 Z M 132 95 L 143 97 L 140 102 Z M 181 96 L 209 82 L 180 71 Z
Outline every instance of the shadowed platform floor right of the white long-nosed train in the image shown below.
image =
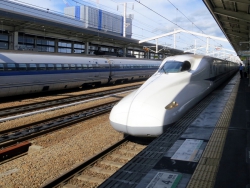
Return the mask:
M 248 79 L 236 74 L 206 100 L 197 117 L 186 117 L 192 119 L 189 126 L 177 129 L 180 135 L 162 134 L 99 187 L 248 187 Z

